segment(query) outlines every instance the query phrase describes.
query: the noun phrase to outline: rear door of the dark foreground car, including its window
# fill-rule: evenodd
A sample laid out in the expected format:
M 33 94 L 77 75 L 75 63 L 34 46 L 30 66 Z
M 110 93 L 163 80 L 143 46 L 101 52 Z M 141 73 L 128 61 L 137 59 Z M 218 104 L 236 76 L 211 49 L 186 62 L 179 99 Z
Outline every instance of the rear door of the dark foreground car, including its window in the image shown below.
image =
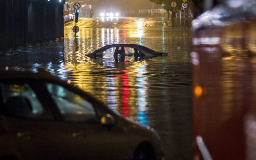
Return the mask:
M 72 159 L 72 149 L 67 135 L 58 129 L 49 99 L 41 103 L 40 95 L 32 82 L 0 82 L 1 100 L 4 104 L 8 135 L 15 137 L 23 159 Z M 42 92 L 45 96 L 47 92 Z M 40 101 L 41 100 L 41 101 Z M 47 102 L 48 100 L 48 102 Z

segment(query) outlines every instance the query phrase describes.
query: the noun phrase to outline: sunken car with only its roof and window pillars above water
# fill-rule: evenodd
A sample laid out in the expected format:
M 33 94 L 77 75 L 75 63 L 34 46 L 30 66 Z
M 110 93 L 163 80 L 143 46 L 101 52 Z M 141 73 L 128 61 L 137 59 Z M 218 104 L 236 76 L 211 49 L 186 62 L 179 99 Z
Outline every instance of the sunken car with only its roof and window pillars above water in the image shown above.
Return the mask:
M 134 55 L 134 57 L 147 56 L 167 56 L 167 52 L 156 52 L 150 48 L 139 44 L 111 44 L 101 47 L 90 53 L 89 57 L 102 56 L 105 54 L 113 54 L 114 57 L 118 55 Z

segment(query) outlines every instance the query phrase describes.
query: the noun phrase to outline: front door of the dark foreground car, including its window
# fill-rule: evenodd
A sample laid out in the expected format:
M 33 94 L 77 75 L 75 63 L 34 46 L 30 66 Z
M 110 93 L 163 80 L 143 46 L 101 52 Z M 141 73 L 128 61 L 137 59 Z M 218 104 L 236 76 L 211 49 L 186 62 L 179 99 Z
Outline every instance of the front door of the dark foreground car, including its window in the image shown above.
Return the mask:
M 67 86 L 45 84 L 63 116 L 62 129 L 72 135 L 75 159 L 124 159 L 128 148 L 126 130 L 116 124 L 104 127 L 93 103 Z M 98 109 L 97 109 L 98 110 Z M 111 116 L 110 114 L 108 116 Z

